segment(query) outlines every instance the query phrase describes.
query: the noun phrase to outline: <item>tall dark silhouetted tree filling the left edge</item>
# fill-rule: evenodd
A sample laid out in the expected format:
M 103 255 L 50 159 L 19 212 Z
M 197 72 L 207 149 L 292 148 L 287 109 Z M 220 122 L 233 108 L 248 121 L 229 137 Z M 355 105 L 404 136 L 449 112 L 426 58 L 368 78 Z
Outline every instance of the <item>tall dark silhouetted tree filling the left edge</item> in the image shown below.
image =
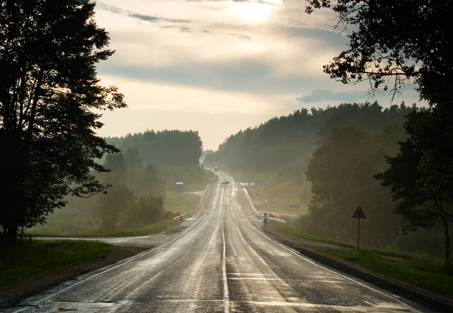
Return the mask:
M 92 109 L 126 107 L 115 86 L 98 85 L 95 64 L 114 51 L 89 0 L 0 1 L 0 189 L 2 235 L 44 223 L 64 196 L 105 191 L 94 161 L 117 152 L 95 130 Z

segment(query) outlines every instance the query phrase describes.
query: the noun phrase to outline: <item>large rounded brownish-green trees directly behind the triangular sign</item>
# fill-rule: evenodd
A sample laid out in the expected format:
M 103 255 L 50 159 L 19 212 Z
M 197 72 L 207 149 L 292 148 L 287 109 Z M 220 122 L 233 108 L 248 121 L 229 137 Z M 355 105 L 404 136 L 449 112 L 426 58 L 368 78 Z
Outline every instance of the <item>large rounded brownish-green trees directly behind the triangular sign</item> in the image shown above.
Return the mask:
M 388 244 L 398 232 L 398 217 L 392 215 L 390 192 L 379 187 L 372 175 L 385 166 L 384 154 L 397 149 L 405 137 L 399 126 L 380 134 L 354 127 L 336 128 L 309 161 L 307 179 L 312 183 L 309 214 L 301 222 L 310 233 L 353 242 L 357 221 L 352 215 L 364 210 L 362 241 Z

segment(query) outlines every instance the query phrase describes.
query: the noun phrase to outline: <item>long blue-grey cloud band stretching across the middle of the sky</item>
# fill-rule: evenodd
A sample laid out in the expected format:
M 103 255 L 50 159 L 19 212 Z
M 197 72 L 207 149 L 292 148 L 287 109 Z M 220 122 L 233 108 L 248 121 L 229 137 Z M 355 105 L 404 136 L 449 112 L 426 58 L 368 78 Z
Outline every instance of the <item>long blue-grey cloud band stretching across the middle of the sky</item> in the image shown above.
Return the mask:
M 323 76 L 307 78 L 303 74 L 275 75 L 274 65 L 253 59 L 234 62 L 192 62 L 166 66 L 103 62 L 97 68 L 103 75 L 127 77 L 139 81 L 258 94 L 272 92 L 291 94 L 294 90 L 300 90 L 301 86 L 310 88 L 325 84 Z

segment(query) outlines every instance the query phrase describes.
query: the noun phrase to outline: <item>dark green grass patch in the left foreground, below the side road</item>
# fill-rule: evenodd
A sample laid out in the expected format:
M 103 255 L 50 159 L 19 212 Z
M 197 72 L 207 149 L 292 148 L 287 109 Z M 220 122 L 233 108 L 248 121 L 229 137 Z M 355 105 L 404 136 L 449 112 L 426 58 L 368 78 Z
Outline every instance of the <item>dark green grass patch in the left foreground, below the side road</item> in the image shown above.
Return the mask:
M 63 269 L 115 251 L 98 241 L 22 241 L 15 247 L 0 246 L 0 286 Z

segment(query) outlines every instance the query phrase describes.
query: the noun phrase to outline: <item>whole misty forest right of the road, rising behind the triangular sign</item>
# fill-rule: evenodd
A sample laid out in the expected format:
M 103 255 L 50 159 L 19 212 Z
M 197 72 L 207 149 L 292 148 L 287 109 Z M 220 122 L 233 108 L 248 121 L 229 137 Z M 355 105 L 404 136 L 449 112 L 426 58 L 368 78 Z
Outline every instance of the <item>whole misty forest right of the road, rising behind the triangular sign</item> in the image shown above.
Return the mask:
M 442 256 L 441 223 L 410 225 L 395 213 L 391 189 L 373 177 L 409 137 L 406 116 L 424 110 L 404 102 L 386 109 L 378 102 L 301 109 L 226 138 L 204 164 L 241 178 L 265 177 L 268 191 L 278 185 L 296 190 L 306 206 L 298 223 L 310 234 L 356 243 L 352 215 L 361 206 L 363 245 Z

